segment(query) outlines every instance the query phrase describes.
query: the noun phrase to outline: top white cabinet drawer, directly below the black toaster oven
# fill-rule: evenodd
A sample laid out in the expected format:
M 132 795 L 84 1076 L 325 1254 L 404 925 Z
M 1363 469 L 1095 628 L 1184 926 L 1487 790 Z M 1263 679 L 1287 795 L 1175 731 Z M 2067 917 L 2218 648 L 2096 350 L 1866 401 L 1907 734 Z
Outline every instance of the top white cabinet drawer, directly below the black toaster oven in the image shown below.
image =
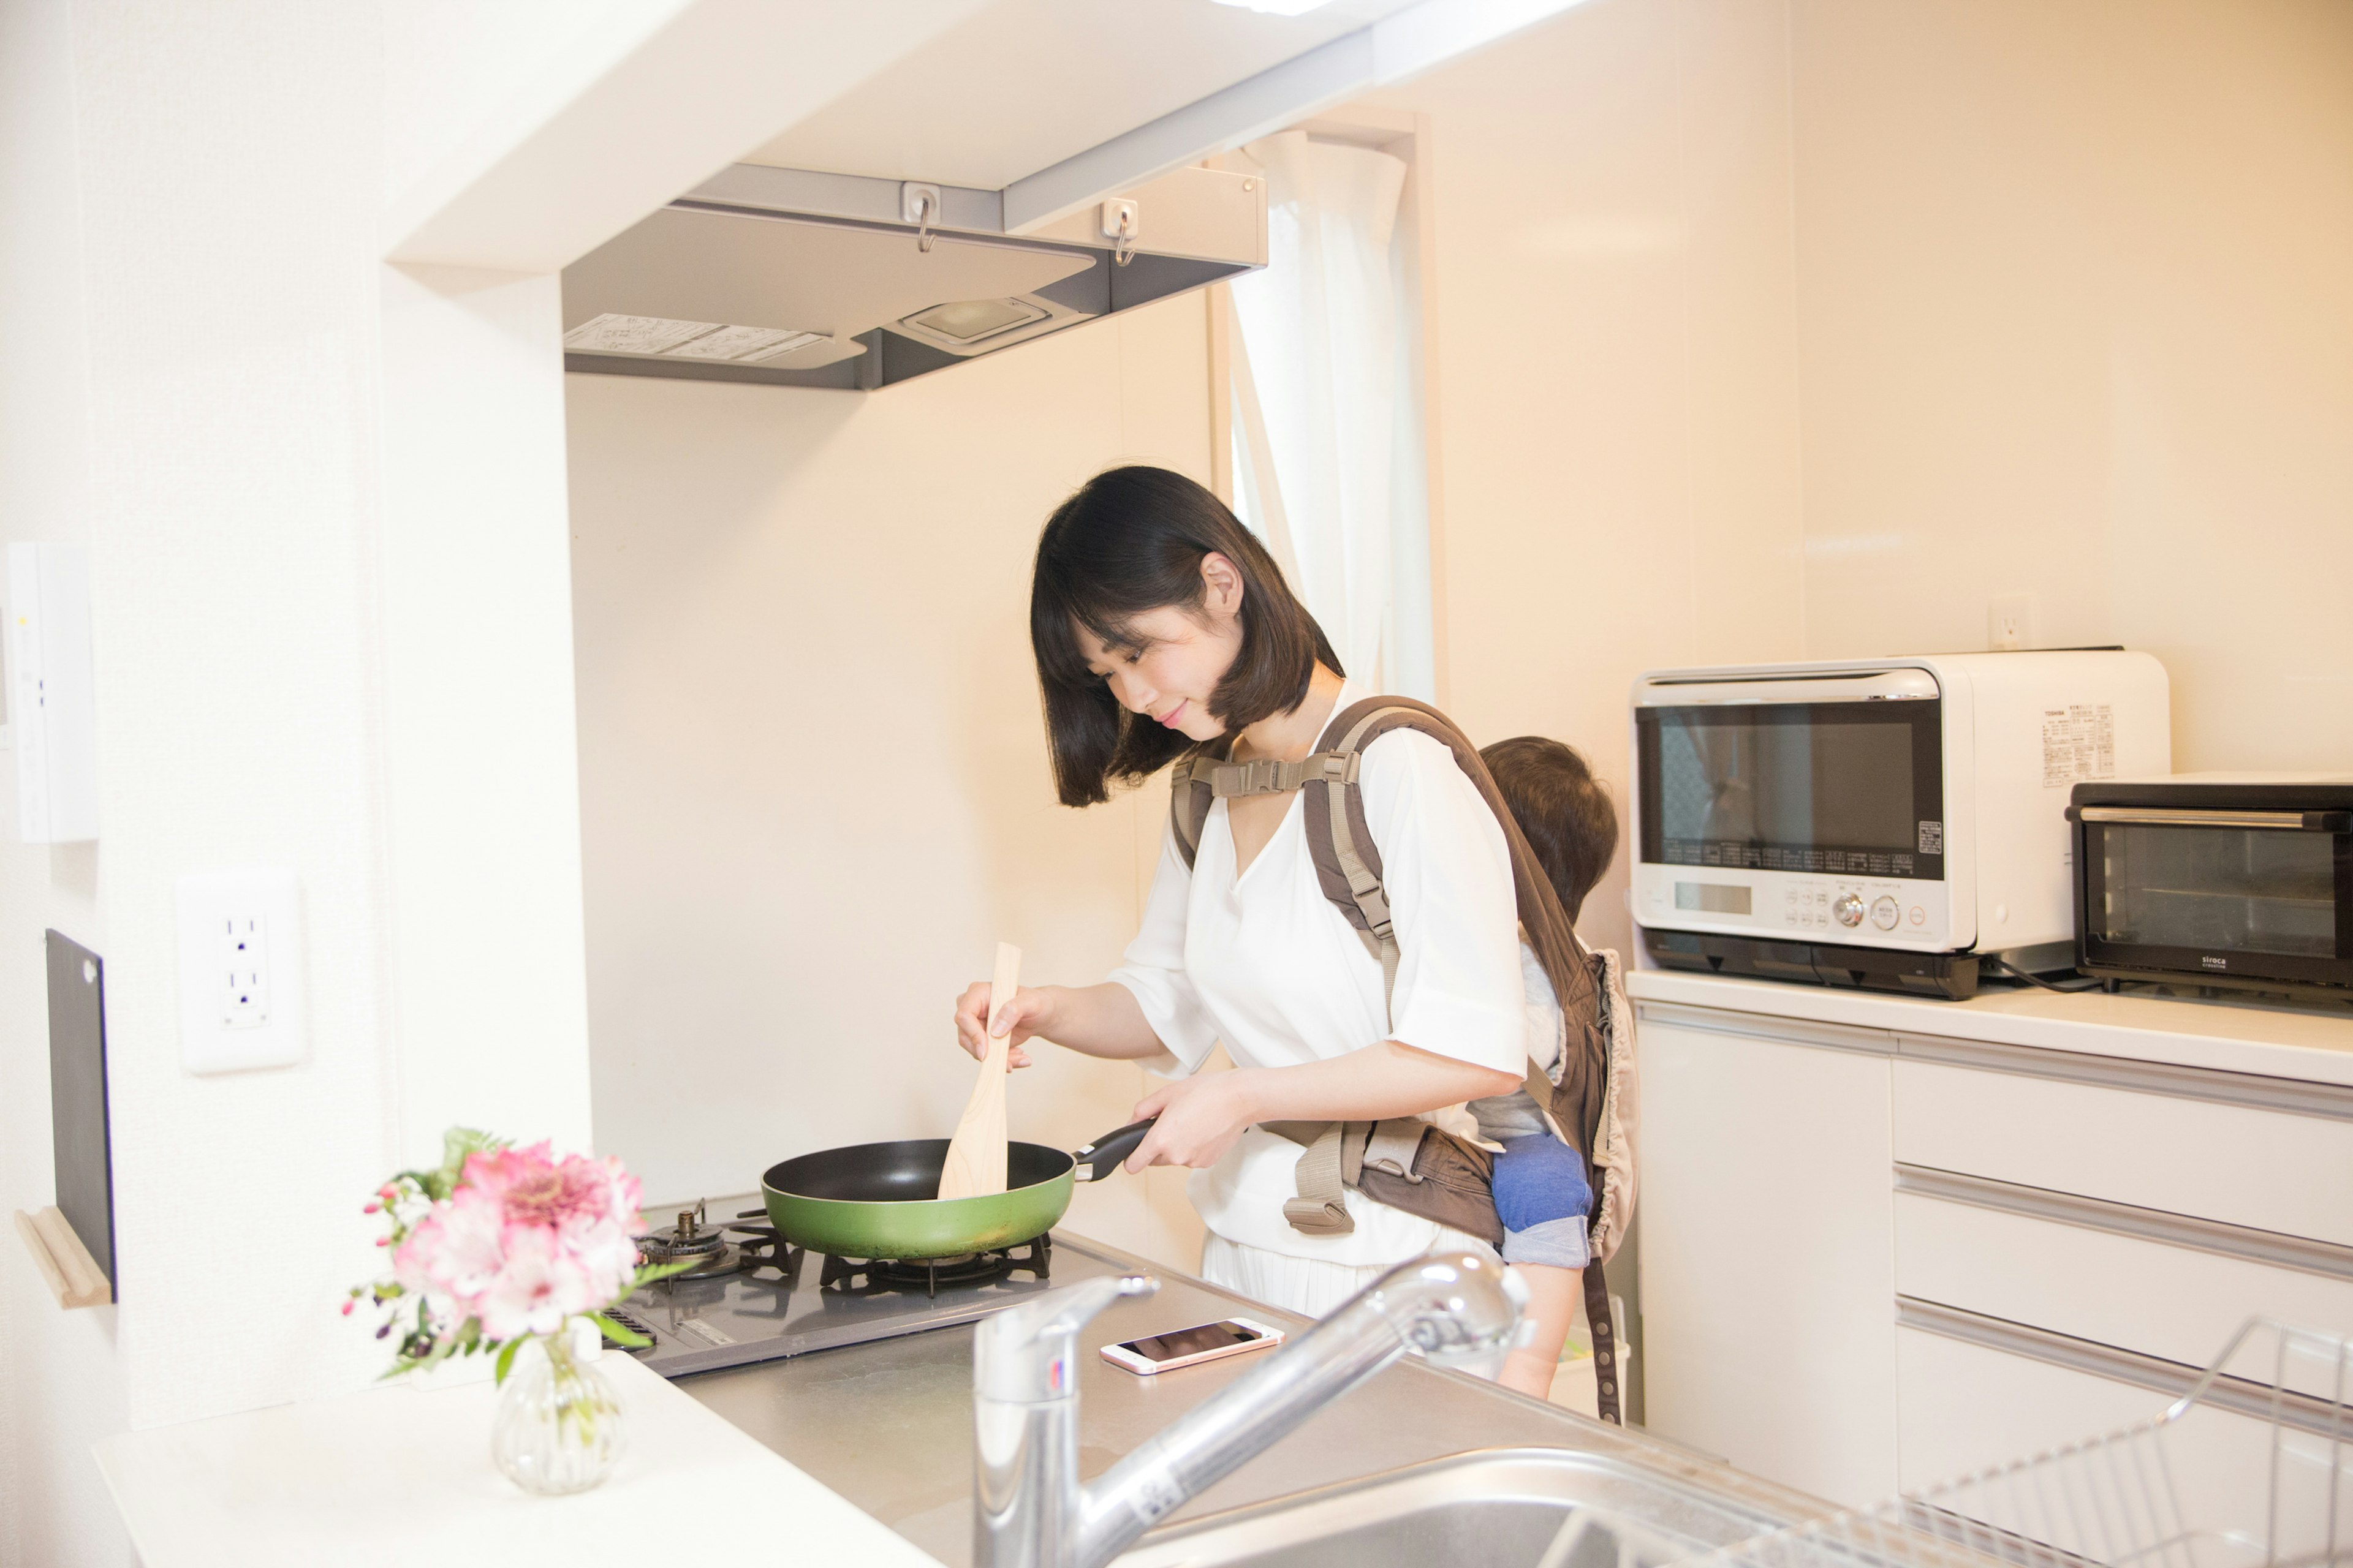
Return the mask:
M 2353 1246 L 2353 1121 L 1894 1063 L 1901 1164 Z

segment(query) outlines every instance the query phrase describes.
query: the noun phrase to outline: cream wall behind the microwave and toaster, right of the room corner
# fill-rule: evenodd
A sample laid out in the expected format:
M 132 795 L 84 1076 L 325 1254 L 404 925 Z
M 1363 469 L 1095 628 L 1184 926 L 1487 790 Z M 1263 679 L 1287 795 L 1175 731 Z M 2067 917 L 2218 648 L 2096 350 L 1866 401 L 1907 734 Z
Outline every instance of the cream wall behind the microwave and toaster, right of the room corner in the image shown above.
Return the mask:
M 1805 630 L 2125 642 L 2353 769 L 2353 7 L 1802 0 Z

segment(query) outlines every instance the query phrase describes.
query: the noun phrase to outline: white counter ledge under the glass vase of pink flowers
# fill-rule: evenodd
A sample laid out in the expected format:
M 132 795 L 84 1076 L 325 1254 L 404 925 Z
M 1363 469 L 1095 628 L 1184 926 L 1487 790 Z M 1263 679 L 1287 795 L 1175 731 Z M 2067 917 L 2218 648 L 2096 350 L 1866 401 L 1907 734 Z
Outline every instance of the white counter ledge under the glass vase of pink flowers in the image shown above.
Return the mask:
M 489 1460 L 496 1389 L 386 1385 L 127 1432 L 99 1469 L 146 1568 L 727 1563 L 934 1559 L 628 1356 L 598 1361 L 628 1406 L 605 1486 L 532 1497 Z

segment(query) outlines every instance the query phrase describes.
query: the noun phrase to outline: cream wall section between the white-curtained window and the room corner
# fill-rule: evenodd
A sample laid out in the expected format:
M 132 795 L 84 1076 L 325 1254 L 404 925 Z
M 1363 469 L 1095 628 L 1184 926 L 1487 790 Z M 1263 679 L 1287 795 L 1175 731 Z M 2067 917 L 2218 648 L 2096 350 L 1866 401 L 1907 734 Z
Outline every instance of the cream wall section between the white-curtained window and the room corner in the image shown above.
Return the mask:
M 1640 670 L 1802 651 L 1784 12 L 1593 0 L 1377 101 L 1433 127 L 1440 703 L 1624 802 Z

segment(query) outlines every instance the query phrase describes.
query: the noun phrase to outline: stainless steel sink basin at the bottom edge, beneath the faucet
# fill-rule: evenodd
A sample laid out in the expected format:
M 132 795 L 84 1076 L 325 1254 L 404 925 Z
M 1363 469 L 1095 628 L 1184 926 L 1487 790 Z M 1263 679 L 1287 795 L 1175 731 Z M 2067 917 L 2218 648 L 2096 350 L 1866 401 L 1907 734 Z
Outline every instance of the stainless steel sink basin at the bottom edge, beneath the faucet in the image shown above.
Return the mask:
M 1113 1568 L 1537 1568 L 1562 1523 L 1572 1568 L 1652 1568 L 1795 1523 L 1654 1469 L 1562 1448 L 1492 1448 L 1146 1535 Z

